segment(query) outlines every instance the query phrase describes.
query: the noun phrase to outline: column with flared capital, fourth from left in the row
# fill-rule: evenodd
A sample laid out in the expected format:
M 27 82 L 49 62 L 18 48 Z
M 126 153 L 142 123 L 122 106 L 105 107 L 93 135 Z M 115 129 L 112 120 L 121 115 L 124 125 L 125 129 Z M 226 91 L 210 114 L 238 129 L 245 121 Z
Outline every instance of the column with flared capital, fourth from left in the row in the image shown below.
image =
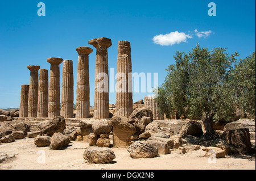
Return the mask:
M 62 58 L 47 58 L 47 62 L 51 64 L 49 77 L 49 103 L 48 117 L 60 116 L 60 64 Z

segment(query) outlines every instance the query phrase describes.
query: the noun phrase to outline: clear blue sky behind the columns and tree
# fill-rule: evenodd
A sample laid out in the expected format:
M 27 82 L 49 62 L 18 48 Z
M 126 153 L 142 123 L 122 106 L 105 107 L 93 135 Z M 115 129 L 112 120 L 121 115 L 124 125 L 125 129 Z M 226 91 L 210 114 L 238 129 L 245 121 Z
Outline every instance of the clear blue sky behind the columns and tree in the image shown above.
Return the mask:
M 38 16 L 39 2 L 45 3 L 46 16 Z M 216 16 L 208 15 L 209 2 L 216 4 Z M 201 37 L 195 30 L 201 32 Z M 162 35 L 158 37 L 159 44 L 153 41 L 157 35 Z M 113 45 L 108 49 L 109 69 L 117 67 L 118 41 L 127 40 L 131 43 L 133 72 L 158 73 L 161 85 L 167 75 L 164 69 L 175 62 L 176 50 L 188 52 L 197 43 L 209 49 L 228 48 L 230 54 L 237 51 L 239 58 L 249 56 L 255 50 L 255 1 L 1 0 L 0 108 L 19 107 L 20 86 L 29 84 L 30 79 L 27 65 L 49 70 L 48 57 L 73 60 L 76 102 L 76 48 L 92 47 L 88 40 L 97 37 L 112 39 Z M 174 41 L 163 45 L 163 39 Z M 91 105 L 96 58 L 96 49 L 92 48 Z M 134 93 L 133 100 L 147 95 L 148 92 Z M 115 104 L 115 93 L 110 93 L 109 98 Z

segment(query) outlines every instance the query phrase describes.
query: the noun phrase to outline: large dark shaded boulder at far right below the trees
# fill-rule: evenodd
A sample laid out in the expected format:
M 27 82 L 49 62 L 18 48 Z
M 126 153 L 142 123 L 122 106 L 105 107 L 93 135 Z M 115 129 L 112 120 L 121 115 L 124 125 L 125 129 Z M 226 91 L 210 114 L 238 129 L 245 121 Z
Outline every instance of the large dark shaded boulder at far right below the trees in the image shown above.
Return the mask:
M 251 151 L 250 133 L 248 128 L 225 131 L 221 134 L 222 140 L 240 148 L 242 154 Z

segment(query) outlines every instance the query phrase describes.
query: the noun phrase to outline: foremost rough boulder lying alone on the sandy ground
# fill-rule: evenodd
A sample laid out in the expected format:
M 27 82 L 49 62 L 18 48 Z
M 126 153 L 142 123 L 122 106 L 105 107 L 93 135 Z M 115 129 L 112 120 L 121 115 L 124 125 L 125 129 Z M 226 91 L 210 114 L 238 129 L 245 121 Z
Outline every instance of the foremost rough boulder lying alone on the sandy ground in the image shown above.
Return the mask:
M 89 163 L 112 163 L 115 159 L 114 151 L 110 148 L 90 147 L 86 148 L 82 155 Z

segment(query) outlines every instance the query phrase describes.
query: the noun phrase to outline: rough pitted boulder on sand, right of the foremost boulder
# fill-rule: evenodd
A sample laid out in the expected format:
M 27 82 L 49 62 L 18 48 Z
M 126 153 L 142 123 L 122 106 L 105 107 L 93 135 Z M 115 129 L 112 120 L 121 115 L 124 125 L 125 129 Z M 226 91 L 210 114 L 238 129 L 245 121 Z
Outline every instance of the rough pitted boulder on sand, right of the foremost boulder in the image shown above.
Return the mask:
M 135 141 L 127 151 L 131 158 L 153 158 L 158 156 L 158 148 L 146 141 Z

